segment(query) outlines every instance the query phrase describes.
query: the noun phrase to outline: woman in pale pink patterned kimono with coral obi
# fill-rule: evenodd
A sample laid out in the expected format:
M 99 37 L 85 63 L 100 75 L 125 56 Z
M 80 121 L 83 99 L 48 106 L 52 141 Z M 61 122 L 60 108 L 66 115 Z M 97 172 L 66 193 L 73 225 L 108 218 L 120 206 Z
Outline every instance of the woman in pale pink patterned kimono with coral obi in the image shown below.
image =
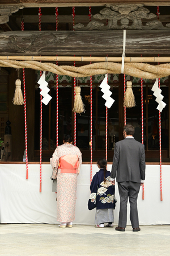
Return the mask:
M 52 179 L 57 177 L 57 221 L 60 228 L 72 227 L 75 219 L 76 183 L 82 164 L 82 153 L 74 146 L 73 137 L 66 135 L 50 158 Z

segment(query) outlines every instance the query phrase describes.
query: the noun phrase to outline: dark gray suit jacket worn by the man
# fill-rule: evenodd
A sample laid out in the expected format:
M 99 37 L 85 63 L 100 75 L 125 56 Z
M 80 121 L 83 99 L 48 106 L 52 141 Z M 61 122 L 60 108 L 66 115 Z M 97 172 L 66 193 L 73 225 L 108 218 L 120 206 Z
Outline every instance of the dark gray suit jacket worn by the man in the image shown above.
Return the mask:
M 111 177 L 117 182 L 145 180 L 145 146 L 134 138 L 115 144 Z M 117 174 L 116 174 L 117 171 Z

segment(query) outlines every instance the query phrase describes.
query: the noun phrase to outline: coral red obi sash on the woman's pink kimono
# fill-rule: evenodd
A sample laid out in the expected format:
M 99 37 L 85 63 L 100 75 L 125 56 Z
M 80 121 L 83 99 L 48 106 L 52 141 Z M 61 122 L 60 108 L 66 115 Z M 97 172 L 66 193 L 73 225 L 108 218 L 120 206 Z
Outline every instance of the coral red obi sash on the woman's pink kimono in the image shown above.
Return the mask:
M 79 166 L 77 155 L 65 155 L 59 158 L 58 169 L 61 174 L 76 174 Z

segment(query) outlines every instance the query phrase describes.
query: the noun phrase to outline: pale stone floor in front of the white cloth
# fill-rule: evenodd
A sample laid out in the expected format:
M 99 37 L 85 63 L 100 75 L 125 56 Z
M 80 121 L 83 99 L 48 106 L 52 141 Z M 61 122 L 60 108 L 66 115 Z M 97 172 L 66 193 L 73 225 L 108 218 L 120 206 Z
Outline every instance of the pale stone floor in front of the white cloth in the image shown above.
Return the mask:
M 114 226 L 115 228 L 115 226 Z M 170 226 L 141 226 L 141 232 L 92 225 L 1 224 L 0 255 L 170 255 Z

